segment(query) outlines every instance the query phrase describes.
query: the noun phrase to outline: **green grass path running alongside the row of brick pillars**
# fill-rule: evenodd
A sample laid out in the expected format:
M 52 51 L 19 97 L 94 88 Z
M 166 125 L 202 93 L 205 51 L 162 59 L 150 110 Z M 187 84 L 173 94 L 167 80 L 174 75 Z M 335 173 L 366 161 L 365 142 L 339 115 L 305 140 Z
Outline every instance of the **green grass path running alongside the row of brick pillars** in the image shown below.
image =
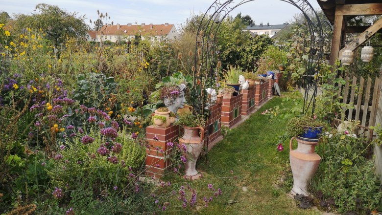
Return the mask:
M 275 117 L 270 120 L 261 114 L 267 108 L 279 105 L 282 98 L 275 97 L 238 128 L 209 151 L 208 158 L 199 157 L 197 170 L 204 177 L 191 181 L 198 191 L 196 210 L 179 212 L 169 210 L 168 214 L 203 215 L 318 215 L 314 210 L 303 210 L 277 188 L 283 169 L 289 159 L 289 146 L 276 150 L 278 136 L 284 132 L 287 120 Z M 287 102 L 285 103 L 287 105 Z M 233 173 L 231 173 L 231 170 Z M 171 176 L 172 175 L 172 176 Z M 180 176 L 169 174 L 172 181 L 184 182 Z M 221 188 L 223 194 L 215 197 L 207 208 L 201 200 L 207 185 Z M 246 189 L 243 187 L 246 187 Z M 246 190 L 244 192 L 243 190 Z M 208 194 L 208 198 L 211 194 Z M 179 200 L 173 200 L 179 201 Z M 170 201 L 171 202 L 171 201 Z M 178 202 L 179 205 L 179 202 Z M 180 208 L 179 208 L 180 209 Z

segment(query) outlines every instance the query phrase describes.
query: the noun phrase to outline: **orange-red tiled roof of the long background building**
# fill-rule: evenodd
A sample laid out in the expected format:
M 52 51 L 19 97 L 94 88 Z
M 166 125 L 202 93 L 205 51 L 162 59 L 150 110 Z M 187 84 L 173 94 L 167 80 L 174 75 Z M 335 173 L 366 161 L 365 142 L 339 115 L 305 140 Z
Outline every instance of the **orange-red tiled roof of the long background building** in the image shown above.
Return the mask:
M 102 26 L 103 35 L 141 35 L 165 36 L 170 33 L 173 24 L 132 24 L 132 25 L 104 25 Z M 101 34 L 99 34 L 101 35 Z

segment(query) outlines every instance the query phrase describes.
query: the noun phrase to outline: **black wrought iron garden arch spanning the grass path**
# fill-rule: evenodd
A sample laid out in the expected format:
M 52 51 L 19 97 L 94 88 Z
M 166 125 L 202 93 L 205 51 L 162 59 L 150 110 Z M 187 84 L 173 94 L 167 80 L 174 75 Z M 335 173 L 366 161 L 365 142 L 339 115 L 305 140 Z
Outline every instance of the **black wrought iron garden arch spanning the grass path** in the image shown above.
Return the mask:
M 213 69 L 215 67 L 214 57 L 216 54 L 214 44 L 216 42 L 220 24 L 232 10 L 251 1 L 254 0 L 215 0 L 204 14 L 197 31 L 193 67 L 194 84 L 195 86 L 199 85 L 201 88 L 201 95 L 198 95 L 199 104 L 204 104 L 205 102 L 203 92 L 206 87 L 205 84 L 203 86 L 202 80 L 213 78 L 215 75 Z M 302 85 L 305 88 L 303 113 L 307 114 L 311 111 L 311 114 L 313 114 L 318 82 L 318 78 L 315 78 L 315 74 L 318 72 L 318 66 L 323 56 L 324 41 L 321 21 L 308 0 L 280 1 L 284 1 L 297 7 L 302 12 L 309 28 L 310 40 L 307 41 L 307 44 L 309 44 L 310 52 L 308 64 L 303 75 Z M 313 14 L 316 21 L 312 21 L 308 14 Z M 197 68 L 196 71 L 195 68 Z M 200 111 L 203 112 L 203 109 L 200 109 Z

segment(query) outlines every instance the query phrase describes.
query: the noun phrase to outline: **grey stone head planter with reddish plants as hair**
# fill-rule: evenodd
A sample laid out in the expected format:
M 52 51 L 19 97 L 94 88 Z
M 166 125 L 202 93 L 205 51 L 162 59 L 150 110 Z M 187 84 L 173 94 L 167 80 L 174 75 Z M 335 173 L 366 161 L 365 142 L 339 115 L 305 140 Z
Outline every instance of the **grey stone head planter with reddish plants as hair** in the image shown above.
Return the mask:
M 185 90 L 187 86 L 181 84 L 179 86 L 164 86 L 161 92 L 161 99 L 171 112 L 177 113 L 179 108 L 183 108 L 186 102 Z

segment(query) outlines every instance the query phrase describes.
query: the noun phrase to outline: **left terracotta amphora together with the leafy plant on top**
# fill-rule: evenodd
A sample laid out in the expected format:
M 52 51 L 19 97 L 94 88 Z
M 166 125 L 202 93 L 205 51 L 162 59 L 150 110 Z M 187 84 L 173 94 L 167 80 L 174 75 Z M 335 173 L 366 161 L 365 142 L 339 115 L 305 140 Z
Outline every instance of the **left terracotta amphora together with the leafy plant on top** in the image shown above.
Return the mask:
M 192 179 L 198 172 L 195 169 L 196 161 L 204 146 L 204 126 L 206 121 L 203 115 L 194 115 L 192 112 L 178 114 L 178 121 L 175 125 L 180 125 L 184 129 L 184 134 L 179 138 L 179 143 L 186 145 L 185 156 L 185 176 Z

